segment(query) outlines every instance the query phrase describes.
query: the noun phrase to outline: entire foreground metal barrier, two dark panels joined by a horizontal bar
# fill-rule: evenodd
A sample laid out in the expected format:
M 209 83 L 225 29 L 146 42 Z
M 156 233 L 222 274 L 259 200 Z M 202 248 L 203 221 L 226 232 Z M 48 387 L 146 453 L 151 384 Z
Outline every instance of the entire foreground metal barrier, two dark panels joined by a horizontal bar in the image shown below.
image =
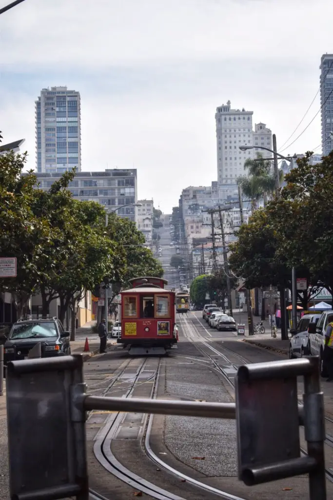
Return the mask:
M 303 407 L 298 403 L 298 376 L 304 377 Z M 236 418 L 241 480 L 253 485 L 309 473 L 311 500 L 326 500 L 319 359 L 241 366 L 235 389 L 236 404 L 100 397 L 85 392 L 81 355 L 10 362 L 7 422 L 11 498 L 52 500 L 76 495 L 77 500 L 87 500 L 86 411 L 100 409 Z M 300 424 L 305 426 L 306 456 L 301 456 Z

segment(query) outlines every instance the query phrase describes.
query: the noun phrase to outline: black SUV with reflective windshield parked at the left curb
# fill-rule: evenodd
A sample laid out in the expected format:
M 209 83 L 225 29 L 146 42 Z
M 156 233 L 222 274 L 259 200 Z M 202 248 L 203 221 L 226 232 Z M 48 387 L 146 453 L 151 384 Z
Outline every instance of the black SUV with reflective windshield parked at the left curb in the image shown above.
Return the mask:
M 64 356 L 70 354 L 69 331 L 65 331 L 61 321 L 52 319 L 32 319 L 13 323 L 3 345 L 3 361 L 26 359 L 29 351 L 40 342 L 41 357 Z

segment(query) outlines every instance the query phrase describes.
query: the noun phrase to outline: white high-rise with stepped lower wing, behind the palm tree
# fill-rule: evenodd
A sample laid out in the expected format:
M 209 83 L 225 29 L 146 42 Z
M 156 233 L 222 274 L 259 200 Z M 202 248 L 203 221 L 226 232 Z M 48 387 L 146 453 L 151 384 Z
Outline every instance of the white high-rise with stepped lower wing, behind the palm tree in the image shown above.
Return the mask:
M 259 146 L 272 148 L 272 132 L 265 123 L 252 128 L 253 111 L 231 109 L 230 100 L 216 109 L 216 147 L 217 147 L 217 178 L 219 199 L 228 200 L 238 197 L 236 179 L 244 175 L 244 163 L 247 158 L 254 158 L 257 152 L 264 157 L 272 153 L 260 149 Z M 239 146 L 253 146 L 242 151 Z M 256 147 L 256 145 L 258 147 Z

